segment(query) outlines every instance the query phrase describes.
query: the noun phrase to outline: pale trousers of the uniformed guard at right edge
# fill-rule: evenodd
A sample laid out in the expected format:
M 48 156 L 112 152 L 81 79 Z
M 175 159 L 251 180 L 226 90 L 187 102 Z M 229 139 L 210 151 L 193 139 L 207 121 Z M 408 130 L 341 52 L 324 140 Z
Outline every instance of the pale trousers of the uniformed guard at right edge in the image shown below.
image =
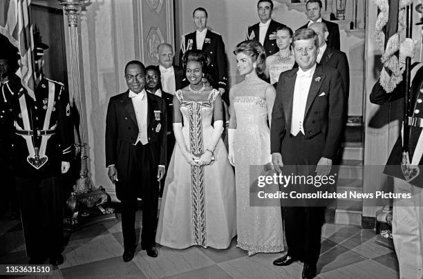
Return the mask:
M 393 203 L 392 237 L 400 278 L 423 278 L 423 191 L 399 178 L 394 178 L 394 191 L 411 195 Z

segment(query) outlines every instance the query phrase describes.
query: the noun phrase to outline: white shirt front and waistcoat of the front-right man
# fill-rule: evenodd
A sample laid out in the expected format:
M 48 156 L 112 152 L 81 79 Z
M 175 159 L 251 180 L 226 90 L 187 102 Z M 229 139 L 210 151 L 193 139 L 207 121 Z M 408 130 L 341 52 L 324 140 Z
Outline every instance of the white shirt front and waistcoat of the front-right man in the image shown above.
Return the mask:
M 310 85 L 312 78 L 316 70 L 316 64 L 313 68 L 304 72 L 301 68 L 298 68 L 297 79 L 295 79 L 294 96 L 292 101 L 292 119 L 291 119 L 291 133 L 297 135 L 300 131 L 304 133 L 304 114 L 306 113 L 306 104 L 308 92 L 310 91 Z

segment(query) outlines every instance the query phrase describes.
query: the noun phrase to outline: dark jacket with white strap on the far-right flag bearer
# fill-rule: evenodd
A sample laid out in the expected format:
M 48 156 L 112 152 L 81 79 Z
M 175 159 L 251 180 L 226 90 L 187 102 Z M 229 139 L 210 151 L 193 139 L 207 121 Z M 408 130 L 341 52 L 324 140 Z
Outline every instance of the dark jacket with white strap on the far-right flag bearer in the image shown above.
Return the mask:
M 416 68 L 417 67 L 417 68 Z M 413 70 L 416 70 L 414 78 L 411 82 L 411 108 L 412 108 L 412 117 L 416 118 L 423 118 L 423 63 L 413 65 Z M 413 72 L 412 70 L 412 72 Z M 404 95 L 404 80 L 405 80 L 405 72 L 403 75 L 403 81 L 397 85 L 395 90 L 392 93 L 386 93 L 384 88 L 380 85 L 379 80 L 373 86 L 372 93 L 370 93 L 370 102 L 373 104 L 386 104 L 388 102 L 393 102 L 397 99 L 402 99 L 405 97 Z M 413 155 L 415 149 L 417 148 L 417 142 L 419 140 L 420 135 L 422 134 L 423 128 L 421 127 L 410 127 L 410 134 L 409 134 L 409 157 L 410 162 L 413 161 Z M 384 173 L 387 175 L 391 175 L 393 177 L 398 177 L 402 180 L 406 180 L 404 174 L 402 173 L 401 169 L 401 162 L 402 162 L 402 136 L 398 137 L 397 142 L 393 146 L 391 155 L 388 157 L 388 162 L 386 162 L 386 167 Z M 418 162 L 418 168 L 420 168 L 420 174 L 417 175 L 415 173 L 415 177 L 413 180 L 410 180 L 409 183 L 415 186 L 423 187 L 423 157 Z

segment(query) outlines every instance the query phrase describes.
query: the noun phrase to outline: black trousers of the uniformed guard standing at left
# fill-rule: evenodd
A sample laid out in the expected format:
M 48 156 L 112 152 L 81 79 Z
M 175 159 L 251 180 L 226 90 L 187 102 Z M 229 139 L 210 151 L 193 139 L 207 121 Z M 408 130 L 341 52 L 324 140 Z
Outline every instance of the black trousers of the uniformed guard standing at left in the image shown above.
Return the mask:
M 57 256 L 63 244 L 60 177 L 15 177 L 26 253 L 30 258 Z

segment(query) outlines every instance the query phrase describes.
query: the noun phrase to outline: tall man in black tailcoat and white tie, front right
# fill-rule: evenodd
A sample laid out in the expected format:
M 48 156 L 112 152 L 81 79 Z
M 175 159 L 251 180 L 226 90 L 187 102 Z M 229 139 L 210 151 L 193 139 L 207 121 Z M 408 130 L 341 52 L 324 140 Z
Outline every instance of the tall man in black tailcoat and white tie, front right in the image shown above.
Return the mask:
M 316 63 L 319 38 L 313 30 L 297 30 L 292 47 L 299 67 L 279 77 L 270 130 L 272 162 L 283 174 L 285 164 L 306 170 L 303 175 L 328 175 L 344 125 L 341 75 Z M 301 260 L 303 278 L 316 276 L 325 217 L 323 206 L 309 205 L 283 207 L 288 253 L 273 262 L 286 266 Z

